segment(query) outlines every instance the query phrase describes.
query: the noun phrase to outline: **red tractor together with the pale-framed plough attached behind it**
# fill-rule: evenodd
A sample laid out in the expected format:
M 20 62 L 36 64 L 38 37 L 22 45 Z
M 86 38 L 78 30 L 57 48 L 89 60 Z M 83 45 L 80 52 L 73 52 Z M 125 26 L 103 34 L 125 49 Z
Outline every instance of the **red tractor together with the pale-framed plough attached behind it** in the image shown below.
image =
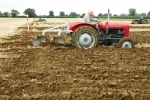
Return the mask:
M 66 29 L 58 29 L 65 25 Z M 57 37 L 50 35 L 53 41 L 69 43 L 76 48 L 95 48 L 98 44 L 115 45 L 120 48 L 134 47 L 132 39 L 129 38 L 129 24 L 111 23 L 108 20 L 108 22 L 97 23 L 97 26 L 98 28 L 82 22 L 66 23 L 44 30 L 42 36 L 37 36 L 33 41 L 33 45 L 37 46 L 41 42 L 45 42 L 46 38 L 44 35 L 46 32 L 58 32 Z M 61 39 L 61 33 L 65 33 L 65 42 Z

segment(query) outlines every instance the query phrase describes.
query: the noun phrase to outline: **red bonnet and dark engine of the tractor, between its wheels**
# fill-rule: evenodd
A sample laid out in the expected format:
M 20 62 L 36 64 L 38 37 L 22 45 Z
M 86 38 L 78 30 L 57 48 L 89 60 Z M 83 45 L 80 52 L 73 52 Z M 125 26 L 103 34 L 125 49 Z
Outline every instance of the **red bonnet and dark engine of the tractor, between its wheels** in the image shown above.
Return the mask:
M 126 23 L 101 23 L 99 38 L 101 43 L 116 45 L 121 38 L 129 36 L 129 25 Z

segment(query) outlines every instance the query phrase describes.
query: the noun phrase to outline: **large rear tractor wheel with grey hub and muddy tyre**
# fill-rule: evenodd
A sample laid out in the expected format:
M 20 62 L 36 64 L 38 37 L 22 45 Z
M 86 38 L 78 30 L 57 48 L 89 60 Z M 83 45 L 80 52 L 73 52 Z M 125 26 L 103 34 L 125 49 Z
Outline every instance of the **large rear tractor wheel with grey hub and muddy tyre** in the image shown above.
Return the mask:
M 95 48 L 98 40 L 98 34 L 91 26 L 80 26 L 72 34 L 72 44 L 76 48 Z

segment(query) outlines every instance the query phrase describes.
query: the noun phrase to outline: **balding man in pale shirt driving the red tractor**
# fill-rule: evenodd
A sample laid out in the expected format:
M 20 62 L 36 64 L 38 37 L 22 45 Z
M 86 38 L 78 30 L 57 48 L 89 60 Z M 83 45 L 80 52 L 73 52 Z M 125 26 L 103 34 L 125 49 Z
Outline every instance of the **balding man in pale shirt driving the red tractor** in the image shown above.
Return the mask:
M 92 22 L 101 22 L 100 19 L 94 19 L 92 18 L 93 11 L 90 10 L 84 17 L 83 17 L 83 23 L 92 24 Z M 92 24 L 93 25 L 93 24 Z

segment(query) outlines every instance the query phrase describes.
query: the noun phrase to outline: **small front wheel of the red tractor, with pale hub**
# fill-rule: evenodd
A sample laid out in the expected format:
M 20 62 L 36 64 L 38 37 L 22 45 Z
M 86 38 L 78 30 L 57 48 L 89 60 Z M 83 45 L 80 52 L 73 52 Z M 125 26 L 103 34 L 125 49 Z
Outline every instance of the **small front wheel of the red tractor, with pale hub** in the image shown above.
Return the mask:
M 120 39 L 120 41 L 118 42 L 116 47 L 118 47 L 118 48 L 133 48 L 134 43 L 133 43 L 132 39 L 130 39 L 130 38 L 122 38 L 122 39 Z

